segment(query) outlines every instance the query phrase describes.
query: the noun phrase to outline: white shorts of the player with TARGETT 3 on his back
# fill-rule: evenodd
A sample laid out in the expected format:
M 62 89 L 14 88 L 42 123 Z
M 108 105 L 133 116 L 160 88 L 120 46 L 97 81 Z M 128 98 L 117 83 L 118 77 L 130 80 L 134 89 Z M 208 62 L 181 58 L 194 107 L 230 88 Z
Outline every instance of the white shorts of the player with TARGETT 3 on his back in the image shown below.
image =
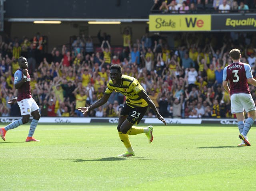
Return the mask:
M 230 97 L 231 100 L 231 112 L 240 113 L 256 110 L 254 100 L 251 94 L 237 93 Z

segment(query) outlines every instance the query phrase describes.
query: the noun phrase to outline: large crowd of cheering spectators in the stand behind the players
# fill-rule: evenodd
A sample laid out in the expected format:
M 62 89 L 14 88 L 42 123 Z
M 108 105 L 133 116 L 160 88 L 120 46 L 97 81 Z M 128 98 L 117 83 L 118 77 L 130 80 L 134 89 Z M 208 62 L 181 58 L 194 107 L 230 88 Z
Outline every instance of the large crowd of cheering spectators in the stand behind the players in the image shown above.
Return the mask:
M 0 37 L 1 116 L 20 115 L 16 103 L 7 103 L 16 96 L 13 76 L 20 56 L 28 58 L 31 92 L 42 116 L 85 116 L 76 108 L 98 100 L 110 78 L 110 65 L 120 64 L 122 74 L 138 79 L 164 117 L 230 118 L 230 96 L 222 87 L 223 69 L 232 63 L 230 49 L 239 48 L 241 61 L 256 73 L 254 33 L 184 32 L 168 38 L 146 33 L 134 42 L 129 29 L 122 35 L 120 47 L 111 46 L 110 35 L 99 35 L 99 45 L 78 36 L 70 46 L 54 47 L 50 55 L 27 37 Z M 256 89 L 250 90 L 256 100 Z M 116 117 L 124 100 L 114 92 L 105 105 L 86 116 Z M 154 117 L 154 112 L 148 109 L 146 115 Z

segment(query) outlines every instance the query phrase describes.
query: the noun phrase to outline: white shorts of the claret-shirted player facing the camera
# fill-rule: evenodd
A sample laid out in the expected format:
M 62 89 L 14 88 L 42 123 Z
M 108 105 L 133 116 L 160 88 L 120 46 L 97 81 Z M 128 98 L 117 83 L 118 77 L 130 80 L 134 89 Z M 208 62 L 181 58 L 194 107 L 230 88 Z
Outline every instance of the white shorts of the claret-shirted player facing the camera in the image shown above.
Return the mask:
M 31 112 L 39 109 L 39 106 L 36 104 L 36 101 L 33 98 L 18 101 L 18 105 L 20 106 L 21 115 L 30 115 Z

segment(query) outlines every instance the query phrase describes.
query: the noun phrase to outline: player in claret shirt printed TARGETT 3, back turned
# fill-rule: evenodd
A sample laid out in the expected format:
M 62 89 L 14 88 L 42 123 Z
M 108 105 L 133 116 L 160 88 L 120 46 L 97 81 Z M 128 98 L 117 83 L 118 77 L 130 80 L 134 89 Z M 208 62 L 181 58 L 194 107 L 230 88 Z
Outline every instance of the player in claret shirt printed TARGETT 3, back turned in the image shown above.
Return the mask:
M 240 62 L 240 50 L 232 49 L 229 54 L 233 63 L 224 68 L 222 85 L 230 93 L 231 112 L 236 114 L 238 120 L 239 138 L 242 139 L 238 146 L 251 146 L 248 142 L 247 133 L 256 118 L 256 108 L 248 82 L 256 86 L 256 80 L 252 77 L 250 65 Z M 230 82 L 230 88 L 228 87 L 228 81 Z M 244 110 L 248 114 L 245 124 Z

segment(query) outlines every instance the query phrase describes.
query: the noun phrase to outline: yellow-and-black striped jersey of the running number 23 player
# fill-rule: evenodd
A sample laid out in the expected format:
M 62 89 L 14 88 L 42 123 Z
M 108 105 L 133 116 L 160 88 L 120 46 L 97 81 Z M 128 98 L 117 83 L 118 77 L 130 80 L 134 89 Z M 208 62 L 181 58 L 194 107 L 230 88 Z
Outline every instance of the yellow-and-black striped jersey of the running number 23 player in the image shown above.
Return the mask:
M 121 93 L 122 95 L 126 96 L 126 104 L 132 108 L 134 107 L 146 107 L 148 103 L 146 100 L 140 98 L 138 93 L 145 90 L 140 85 L 137 79 L 134 77 L 130 77 L 127 75 L 122 75 L 122 82 L 121 85 L 114 85 L 112 80 L 108 81 L 107 89 L 104 94 L 111 94 L 113 91 Z

